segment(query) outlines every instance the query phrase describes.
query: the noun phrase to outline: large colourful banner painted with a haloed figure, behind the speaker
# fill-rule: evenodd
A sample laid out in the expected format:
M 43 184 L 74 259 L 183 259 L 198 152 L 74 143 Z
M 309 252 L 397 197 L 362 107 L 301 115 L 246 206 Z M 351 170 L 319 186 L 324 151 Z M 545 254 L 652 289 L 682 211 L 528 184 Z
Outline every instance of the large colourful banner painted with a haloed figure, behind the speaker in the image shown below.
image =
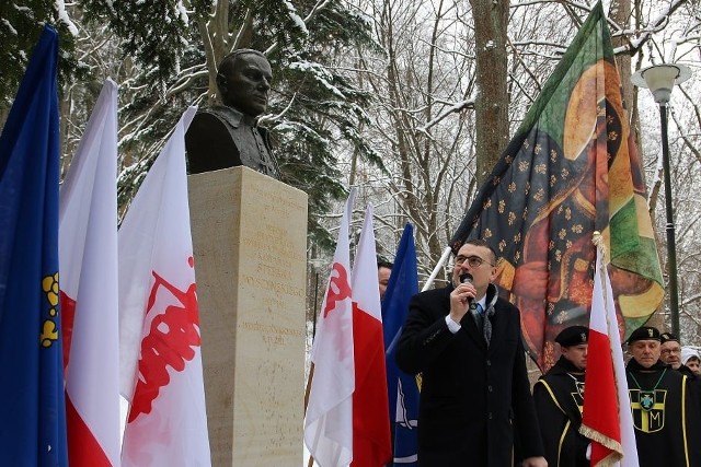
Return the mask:
M 595 231 L 625 337 L 657 310 L 664 280 L 640 159 L 620 93 L 606 15 L 595 8 L 450 241 L 497 252 L 495 283 L 521 311 L 531 357 L 547 371 L 555 336 L 588 325 Z

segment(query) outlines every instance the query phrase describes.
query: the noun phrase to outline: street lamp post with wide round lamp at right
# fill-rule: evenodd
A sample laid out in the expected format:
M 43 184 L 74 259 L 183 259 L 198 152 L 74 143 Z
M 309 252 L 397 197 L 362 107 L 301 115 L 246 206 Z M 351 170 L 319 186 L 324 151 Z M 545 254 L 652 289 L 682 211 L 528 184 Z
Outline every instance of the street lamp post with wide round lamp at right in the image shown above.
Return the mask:
M 682 65 L 654 65 L 637 71 L 631 81 L 639 87 L 648 87 L 659 105 L 662 126 L 662 165 L 665 182 L 665 207 L 667 211 L 667 268 L 669 273 L 669 315 L 671 332 L 679 335 L 679 292 L 677 288 L 677 246 L 675 240 L 674 208 L 671 206 L 671 179 L 669 176 L 669 140 L 667 137 L 667 104 L 675 84 L 682 83 L 691 77 L 689 69 Z

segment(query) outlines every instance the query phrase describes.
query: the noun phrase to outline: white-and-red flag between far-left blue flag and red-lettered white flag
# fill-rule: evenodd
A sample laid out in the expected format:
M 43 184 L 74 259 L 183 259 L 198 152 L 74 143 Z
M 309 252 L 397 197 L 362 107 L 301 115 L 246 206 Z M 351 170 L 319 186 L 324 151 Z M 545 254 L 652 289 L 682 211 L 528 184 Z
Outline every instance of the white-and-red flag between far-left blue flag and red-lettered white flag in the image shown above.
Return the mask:
M 117 85 L 107 79 L 59 197 L 59 283 L 71 467 L 119 465 Z

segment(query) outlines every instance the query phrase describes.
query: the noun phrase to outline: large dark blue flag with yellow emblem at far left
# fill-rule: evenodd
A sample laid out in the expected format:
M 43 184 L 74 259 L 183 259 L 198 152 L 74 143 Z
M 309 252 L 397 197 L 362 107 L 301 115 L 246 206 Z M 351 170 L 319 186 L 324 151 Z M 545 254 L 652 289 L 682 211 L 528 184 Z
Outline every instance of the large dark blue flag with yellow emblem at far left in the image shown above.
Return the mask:
M 45 26 L 0 136 L 0 466 L 68 465 L 57 59 Z

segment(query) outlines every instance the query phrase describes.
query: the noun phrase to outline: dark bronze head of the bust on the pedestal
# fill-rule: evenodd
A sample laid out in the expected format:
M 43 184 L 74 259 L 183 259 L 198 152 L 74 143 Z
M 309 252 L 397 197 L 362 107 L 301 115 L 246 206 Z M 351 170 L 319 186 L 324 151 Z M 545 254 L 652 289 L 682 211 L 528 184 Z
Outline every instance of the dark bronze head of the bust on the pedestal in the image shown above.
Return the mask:
M 257 117 L 267 107 L 272 79 L 271 63 L 262 52 L 238 49 L 219 63 L 217 87 L 223 105 Z

